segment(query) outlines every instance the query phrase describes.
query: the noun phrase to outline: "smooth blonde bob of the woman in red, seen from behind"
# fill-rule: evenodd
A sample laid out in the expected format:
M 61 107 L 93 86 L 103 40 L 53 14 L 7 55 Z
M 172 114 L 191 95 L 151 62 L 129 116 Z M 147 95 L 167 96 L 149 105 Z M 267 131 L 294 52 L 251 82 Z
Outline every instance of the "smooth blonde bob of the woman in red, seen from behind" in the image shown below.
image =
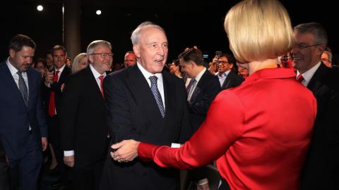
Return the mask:
M 276 58 L 294 43 L 290 16 L 277 0 L 241 1 L 228 11 L 224 26 L 239 63 Z

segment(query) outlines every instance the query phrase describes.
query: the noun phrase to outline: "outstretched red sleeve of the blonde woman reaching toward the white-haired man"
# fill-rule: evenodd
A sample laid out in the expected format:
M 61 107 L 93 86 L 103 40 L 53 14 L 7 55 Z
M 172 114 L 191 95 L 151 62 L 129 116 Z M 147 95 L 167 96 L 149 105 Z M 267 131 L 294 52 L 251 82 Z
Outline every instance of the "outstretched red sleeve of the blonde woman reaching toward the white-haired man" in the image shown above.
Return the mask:
M 222 91 L 211 103 L 205 122 L 181 148 L 141 143 L 138 156 L 161 167 L 182 170 L 199 167 L 220 158 L 242 137 L 246 117 L 241 101 L 232 91 Z

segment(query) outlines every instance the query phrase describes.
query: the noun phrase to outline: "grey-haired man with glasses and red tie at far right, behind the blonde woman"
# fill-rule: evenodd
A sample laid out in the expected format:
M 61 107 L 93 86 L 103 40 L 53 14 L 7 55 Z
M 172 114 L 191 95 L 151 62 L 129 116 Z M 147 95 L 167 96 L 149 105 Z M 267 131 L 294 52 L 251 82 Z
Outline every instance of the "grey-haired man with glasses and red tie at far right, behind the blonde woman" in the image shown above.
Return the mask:
M 297 25 L 294 37 L 292 56 L 297 80 L 313 92 L 317 101 L 302 189 L 339 189 L 339 73 L 321 62 L 327 34 L 319 23 Z

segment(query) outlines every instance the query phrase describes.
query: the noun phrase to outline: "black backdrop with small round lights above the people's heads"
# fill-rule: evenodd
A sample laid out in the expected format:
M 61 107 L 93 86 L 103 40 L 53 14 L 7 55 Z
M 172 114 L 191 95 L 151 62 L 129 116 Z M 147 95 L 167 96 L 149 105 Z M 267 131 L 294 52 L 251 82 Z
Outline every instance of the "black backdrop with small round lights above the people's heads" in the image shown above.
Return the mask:
M 85 52 L 93 40 L 105 39 L 112 43 L 114 63 L 122 63 L 124 53 L 131 50 L 131 32 L 138 24 L 149 20 L 167 32 L 167 62 L 176 58 L 186 47 L 194 45 L 211 58 L 217 50 L 228 51 L 223 19 L 237 2 L 239 1 L 81 0 L 81 51 Z M 335 1 L 281 2 L 290 13 L 293 26 L 299 23 L 321 23 L 328 32 L 328 45 L 334 53 L 338 53 L 336 27 L 339 14 Z M 7 58 L 8 42 L 15 34 L 26 34 L 35 40 L 35 58 L 44 57 L 47 49 L 62 44 L 62 3 L 62 0 L 2 1 L 0 60 Z M 44 6 L 44 11 L 37 11 L 38 4 Z M 102 11 L 102 15 L 95 14 L 97 9 Z

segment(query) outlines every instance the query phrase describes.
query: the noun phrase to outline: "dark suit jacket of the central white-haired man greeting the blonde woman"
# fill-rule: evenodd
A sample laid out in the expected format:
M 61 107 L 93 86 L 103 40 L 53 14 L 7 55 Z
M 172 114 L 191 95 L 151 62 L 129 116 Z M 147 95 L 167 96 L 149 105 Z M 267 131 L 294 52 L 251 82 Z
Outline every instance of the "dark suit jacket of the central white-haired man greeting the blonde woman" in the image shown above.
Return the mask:
M 104 81 L 112 143 L 136 139 L 157 145 L 184 142 L 191 134 L 186 89 L 179 78 L 162 71 L 165 118 L 138 65 L 109 74 Z M 108 156 L 100 189 L 179 189 L 179 170 L 138 158 L 118 163 Z

